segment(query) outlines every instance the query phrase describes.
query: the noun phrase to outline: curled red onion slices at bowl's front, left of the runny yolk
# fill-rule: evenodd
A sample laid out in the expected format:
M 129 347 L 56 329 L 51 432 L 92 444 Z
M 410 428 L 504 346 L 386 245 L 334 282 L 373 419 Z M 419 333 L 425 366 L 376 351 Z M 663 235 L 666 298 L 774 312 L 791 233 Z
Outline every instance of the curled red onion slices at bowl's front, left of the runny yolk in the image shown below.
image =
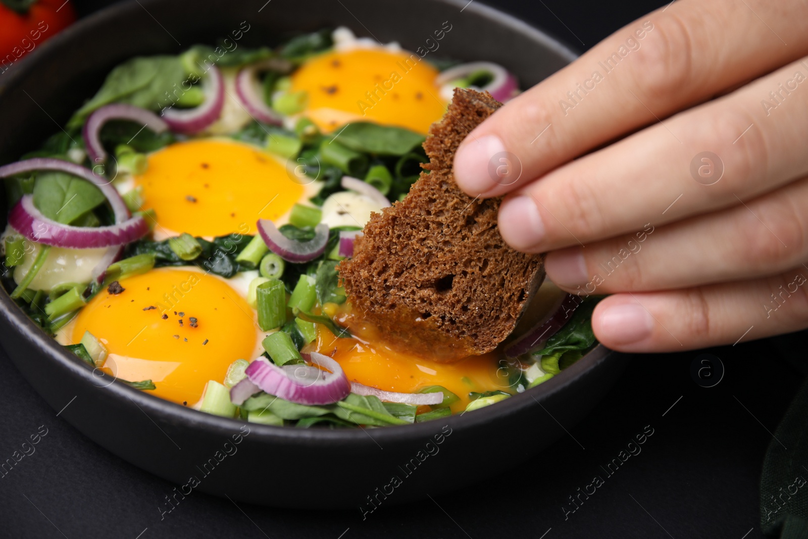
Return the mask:
M 327 368 L 330 373 L 320 370 L 313 379 L 312 371 L 305 365 L 289 365 L 291 368 L 281 368 L 263 356 L 257 358 L 244 371 L 247 377 L 230 390 L 230 400 L 236 405 L 244 403 L 246 399 L 242 400 L 242 397 L 252 390 L 250 385 L 244 384 L 245 381 L 278 398 L 309 406 L 333 404 L 351 393 L 351 384 L 348 383 L 339 363 L 317 352 L 311 352 L 309 360 L 315 365 Z M 301 370 L 301 376 L 297 376 L 297 369 Z

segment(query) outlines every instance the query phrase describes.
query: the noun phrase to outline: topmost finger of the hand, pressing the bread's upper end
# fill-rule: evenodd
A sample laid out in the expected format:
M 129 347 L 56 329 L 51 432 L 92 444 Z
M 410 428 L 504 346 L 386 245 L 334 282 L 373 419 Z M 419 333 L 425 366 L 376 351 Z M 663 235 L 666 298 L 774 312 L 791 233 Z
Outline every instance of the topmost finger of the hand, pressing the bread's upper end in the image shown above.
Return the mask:
M 680 0 L 634 21 L 475 128 L 457 150 L 457 184 L 470 196 L 503 195 L 804 56 L 799 3 Z

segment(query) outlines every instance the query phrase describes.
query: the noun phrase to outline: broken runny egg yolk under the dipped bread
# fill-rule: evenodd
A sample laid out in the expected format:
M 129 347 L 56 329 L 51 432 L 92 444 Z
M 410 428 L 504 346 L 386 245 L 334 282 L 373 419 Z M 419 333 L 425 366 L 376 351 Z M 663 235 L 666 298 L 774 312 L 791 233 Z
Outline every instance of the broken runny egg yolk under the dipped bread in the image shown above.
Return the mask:
M 330 356 L 343 368 L 348 380 L 379 390 L 417 393 L 428 385 L 442 385 L 460 398 L 452 404 L 453 413 L 465 410 L 473 400 L 469 397 L 471 391 L 513 391 L 494 352 L 452 364 L 439 363 L 395 352 L 381 340 L 364 343 L 352 338 L 337 339 L 324 326 L 318 326 L 317 339 L 302 351 Z

